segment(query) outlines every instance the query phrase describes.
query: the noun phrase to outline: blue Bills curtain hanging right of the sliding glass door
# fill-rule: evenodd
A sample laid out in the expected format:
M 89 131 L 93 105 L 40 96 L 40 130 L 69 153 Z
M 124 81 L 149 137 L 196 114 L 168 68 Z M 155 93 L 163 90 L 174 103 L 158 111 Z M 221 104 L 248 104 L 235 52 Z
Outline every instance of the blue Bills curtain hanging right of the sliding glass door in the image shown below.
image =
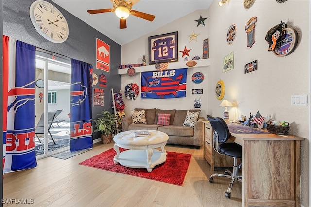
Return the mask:
M 71 59 L 70 96 L 70 151 L 93 147 L 92 104 L 91 104 L 92 65 Z

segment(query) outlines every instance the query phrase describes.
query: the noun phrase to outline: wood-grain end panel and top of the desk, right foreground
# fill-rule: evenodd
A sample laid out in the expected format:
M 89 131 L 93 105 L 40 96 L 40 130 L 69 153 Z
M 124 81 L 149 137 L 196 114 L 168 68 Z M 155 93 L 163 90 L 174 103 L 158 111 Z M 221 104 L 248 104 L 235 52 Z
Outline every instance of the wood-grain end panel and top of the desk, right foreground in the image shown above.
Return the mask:
M 231 133 L 230 139 L 242 145 L 242 206 L 300 207 L 300 143 L 304 138 Z

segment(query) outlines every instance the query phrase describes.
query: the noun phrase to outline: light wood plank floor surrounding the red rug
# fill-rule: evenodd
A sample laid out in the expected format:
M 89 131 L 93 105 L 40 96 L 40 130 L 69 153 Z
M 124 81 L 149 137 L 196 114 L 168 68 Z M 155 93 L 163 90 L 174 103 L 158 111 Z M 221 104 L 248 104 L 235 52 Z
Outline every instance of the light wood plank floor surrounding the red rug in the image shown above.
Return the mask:
M 229 179 L 208 179 L 212 173 L 203 158 L 203 147 L 195 149 L 167 145 L 167 151 L 192 154 L 183 186 L 152 181 L 78 165 L 113 147 L 94 144 L 92 150 L 62 160 L 47 157 L 34 169 L 6 173 L 4 199 L 28 199 L 32 204 L 4 204 L 4 207 L 239 207 L 242 184 L 235 182 L 231 198 L 225 197 Z M 219 169 L 218 169 L 219 170 Z M 33 200 L 31 200 L 33 199 Z

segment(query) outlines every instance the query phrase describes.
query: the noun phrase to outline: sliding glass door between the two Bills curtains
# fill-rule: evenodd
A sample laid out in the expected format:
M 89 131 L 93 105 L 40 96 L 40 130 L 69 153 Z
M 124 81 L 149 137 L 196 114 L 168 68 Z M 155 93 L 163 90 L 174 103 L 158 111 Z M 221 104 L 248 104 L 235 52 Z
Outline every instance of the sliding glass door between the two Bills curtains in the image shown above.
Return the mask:
M 71 66 L 36 57 L 35 145 L 37 158 L 69 149 Z

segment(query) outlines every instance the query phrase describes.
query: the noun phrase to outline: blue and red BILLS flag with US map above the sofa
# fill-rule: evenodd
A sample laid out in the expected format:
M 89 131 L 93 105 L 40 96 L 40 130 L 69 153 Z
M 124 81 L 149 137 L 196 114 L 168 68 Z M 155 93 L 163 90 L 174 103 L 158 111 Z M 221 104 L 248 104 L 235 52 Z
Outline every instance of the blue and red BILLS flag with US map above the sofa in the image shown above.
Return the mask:
M 141 98 L 186 97 L 187 68 L 141 73 Z

